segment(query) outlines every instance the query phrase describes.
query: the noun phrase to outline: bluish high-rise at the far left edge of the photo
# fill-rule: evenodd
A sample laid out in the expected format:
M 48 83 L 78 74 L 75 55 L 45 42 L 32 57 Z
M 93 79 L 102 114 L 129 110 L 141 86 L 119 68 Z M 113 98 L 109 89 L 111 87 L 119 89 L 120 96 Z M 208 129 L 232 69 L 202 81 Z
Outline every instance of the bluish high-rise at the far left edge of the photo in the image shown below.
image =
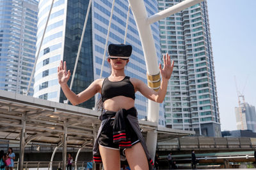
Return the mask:
M 23 94 L 36 52 L 36 0 L 0 0 L 0 89 Z M 32 81 L 33 85 L 33 81 Z M 28 95 L 33 95 L 33 88 Z

